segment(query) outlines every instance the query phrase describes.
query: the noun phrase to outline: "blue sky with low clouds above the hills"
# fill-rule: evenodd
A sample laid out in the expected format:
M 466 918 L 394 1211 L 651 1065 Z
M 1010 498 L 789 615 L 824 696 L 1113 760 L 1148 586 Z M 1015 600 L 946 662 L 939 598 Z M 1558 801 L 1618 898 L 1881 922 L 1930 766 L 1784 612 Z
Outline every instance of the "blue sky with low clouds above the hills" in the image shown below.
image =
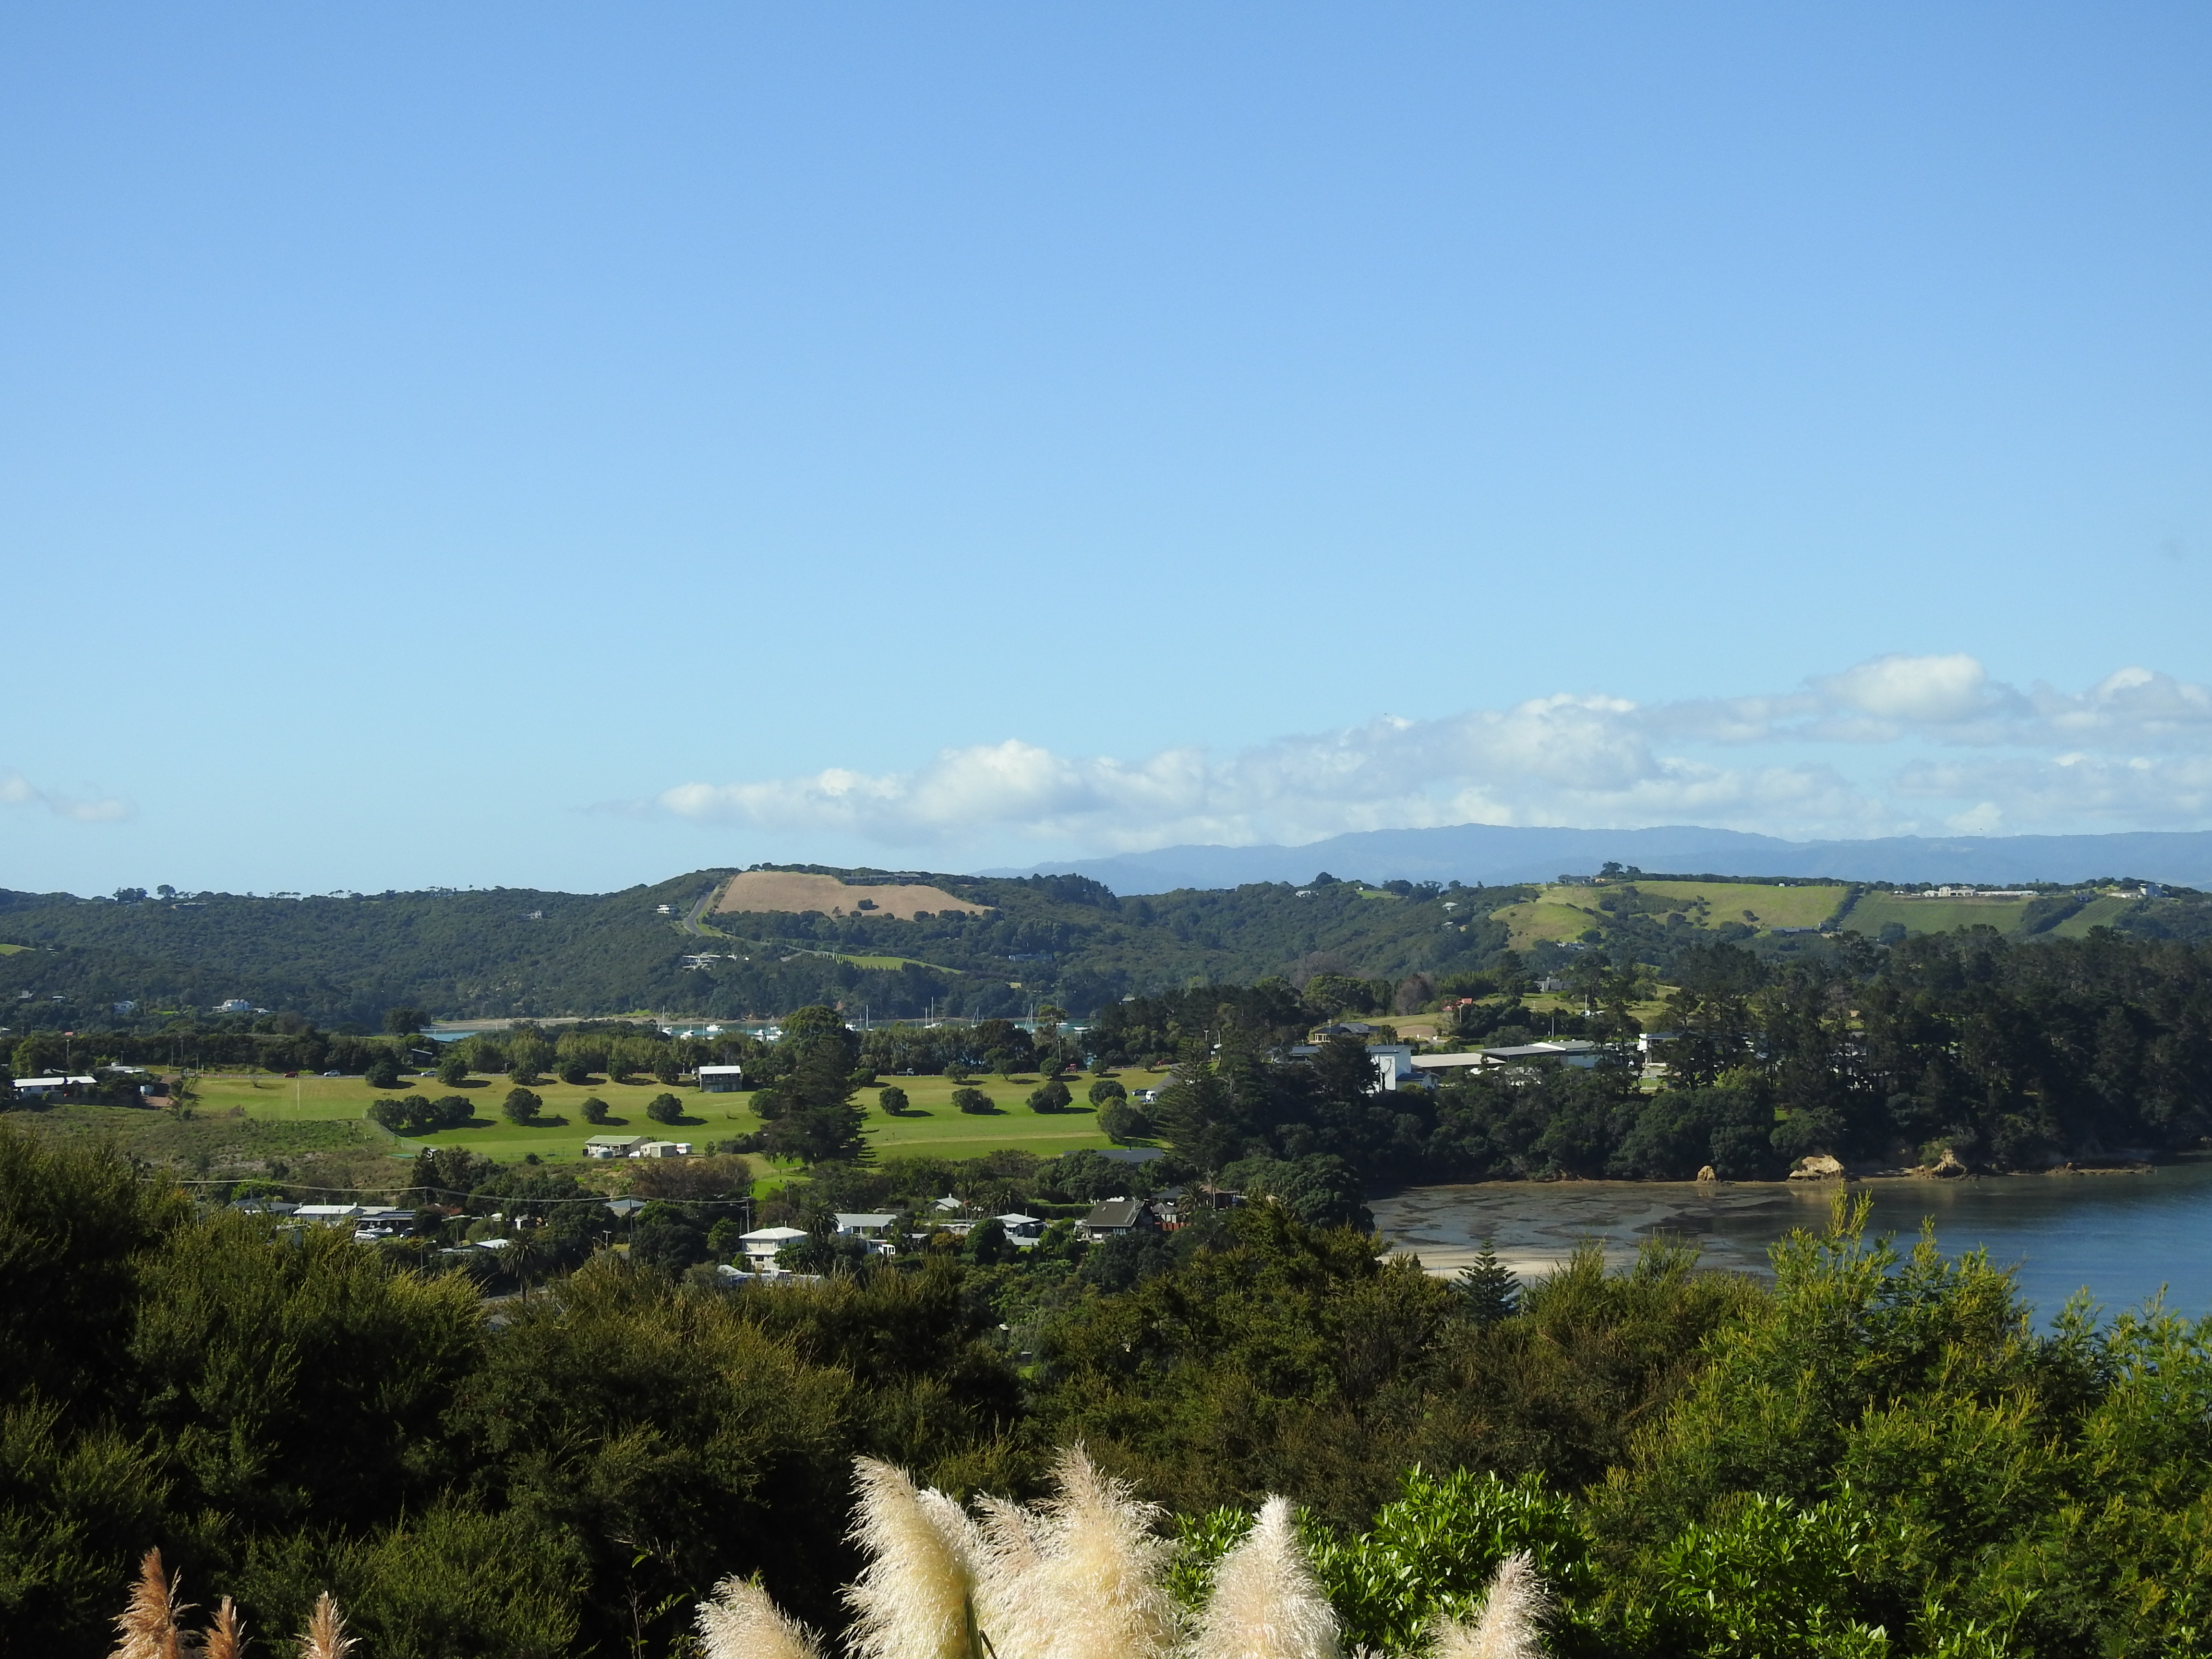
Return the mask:
M 15 7 L 0 885 L 2212 825 L 2201 7 Z

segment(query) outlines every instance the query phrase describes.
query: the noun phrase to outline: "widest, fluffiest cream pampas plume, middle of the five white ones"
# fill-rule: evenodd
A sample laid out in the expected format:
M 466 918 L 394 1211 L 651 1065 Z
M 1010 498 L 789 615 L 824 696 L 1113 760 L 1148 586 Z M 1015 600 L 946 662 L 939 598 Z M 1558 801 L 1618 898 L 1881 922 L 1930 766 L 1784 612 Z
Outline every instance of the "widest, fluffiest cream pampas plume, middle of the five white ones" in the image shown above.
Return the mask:
M 1060 1453 L 1060 1495 L 1037 1511 L 984 1504 L 982 1604 L 998 1659 L 1164 1659 L 1177 1606 L 1175 1546 L 1159 1509 L 1102 1475 L 1082 1447 Z

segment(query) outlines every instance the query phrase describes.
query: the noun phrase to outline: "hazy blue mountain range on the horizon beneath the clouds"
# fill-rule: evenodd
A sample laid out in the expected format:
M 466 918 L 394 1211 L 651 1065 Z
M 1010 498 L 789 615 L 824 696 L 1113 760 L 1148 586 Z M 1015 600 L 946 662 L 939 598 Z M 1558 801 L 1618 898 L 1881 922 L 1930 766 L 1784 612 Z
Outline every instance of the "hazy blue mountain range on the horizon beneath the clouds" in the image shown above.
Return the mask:
M 1843 880 L 1951 880 L 2006 885 L 2139 876 L 2212 887 L 2212 832 L 2143 830 L 2110 836 L 1882 836 L 1781 841 L 1739 830 L 1524 830 L 1455 823 L 1442 830 L 1363 830 L 1303 847 L 1159 847 L 1071 858 L 982 876 L 1088 876 L 1117 894 L 1312 880 L 1520 883 L 1586 876 L 1606 860 L 1683 876 L 1836 876 Z

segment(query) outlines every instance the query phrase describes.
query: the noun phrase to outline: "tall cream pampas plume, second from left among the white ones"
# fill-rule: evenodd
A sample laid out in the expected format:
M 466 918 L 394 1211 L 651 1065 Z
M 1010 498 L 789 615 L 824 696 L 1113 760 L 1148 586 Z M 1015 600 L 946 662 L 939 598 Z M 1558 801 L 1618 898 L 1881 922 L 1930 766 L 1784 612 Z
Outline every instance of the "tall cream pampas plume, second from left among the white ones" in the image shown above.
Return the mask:
M 898 1469 L 854 1460 L 860 1504 L 852 1537 L 867 1568 L 845 1588 L 854 1659 L 982 1659 L 973 1559 L 980 1540 L 940 1491 L 918 1491 Z

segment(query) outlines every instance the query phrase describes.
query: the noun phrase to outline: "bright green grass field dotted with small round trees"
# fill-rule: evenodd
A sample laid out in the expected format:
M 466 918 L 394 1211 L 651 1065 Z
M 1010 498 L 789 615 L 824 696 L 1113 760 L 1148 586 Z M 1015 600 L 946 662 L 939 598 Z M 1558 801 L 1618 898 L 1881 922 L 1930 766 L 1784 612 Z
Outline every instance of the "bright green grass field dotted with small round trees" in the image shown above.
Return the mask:
M 1119 1073 L 1124 1086 L 1135 1093 L 1161 1082 L 1161 1073 L 1130 1068 Z M 953 1110 L 951 1093 L 958 1084 L 947 1077 L 900 1077 L 907 1091 L 909 1110 L 887 1117 L 876 1108 L 876 1088 L 863 1088 L 860 1102 L 869 1108 L 869 1141 L 878 1155 L 929 1155 L 929 1157 L 980 1157 L 984 1152 L 1015 1146 L 1040 1157 L 1071 1152 L 1075 1148 L 1110 1146 L 1093 1124 L 1091 1106 L 1084 1104 L 1088 1077 L 1073 1077 L 1075 1106 L 1066 1113 L 1040 1117 L 1024 1104 L 1037 1077 L 978 1077 L 975 1088 L 995 1104 L 993 1115 L 964 1115 Z M 513 1161 L 535 1152 L 542 1161 L 566 1161 L 584 1157 L 584 1141 L 591 1135 L 653 1135 L 672 1141 L 719 1141 L 732 1135 L 750 1135 L 761 1128 L 752 1115 L 750 1095 L 701 1095 L 695 1088 L 666 1088 L 655 1082 L 633 1084 L 538 1084 L 533 1093 L 544 1099 L 544 1115 L 538 1124 L 509 1124 L 500 1115 L 511 1084 L 504 1077 L 471 1077 L 467 1088 L 449 1091 L 436 1077 L 405 1077 L 398 1088 L 369 1088 L 358 1077 L 201 1077 L 197 1082 L 199 1113 L 215 1115 L 243 1108 L 252 1121 L 345 1121 L 358 1124 L 367 1104 L 387 1095 L 438 1095 L 462 1093 L 476 1102 L 476 1121 L 469 1128 L 440 1130 L 436 1135 L 394 1141 L 394 1150 L 416 1146 L 467 1146 L 473 1152 Z M 655 1124 L 646 1117 L 646 1102 L 659 1093 L 672 1093 L 684 1102 L 684 1121 Z M 591 1095 L 604 1099 L 613 1113 L 606 1124 L 586 1124 L 577 1110 Z M 367 1130 L 376 1133 L 376 1130 Z

